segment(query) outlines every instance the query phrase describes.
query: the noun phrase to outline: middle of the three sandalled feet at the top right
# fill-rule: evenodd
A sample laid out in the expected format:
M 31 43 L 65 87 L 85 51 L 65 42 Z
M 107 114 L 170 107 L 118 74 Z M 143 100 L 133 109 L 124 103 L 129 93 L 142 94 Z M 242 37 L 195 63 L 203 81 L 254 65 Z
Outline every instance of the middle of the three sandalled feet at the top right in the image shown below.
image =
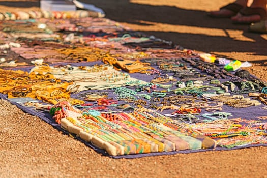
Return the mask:
M 259 15 L 260 19 L 258 20 L 242 20 L 242 19 L 234 19 L 234 17 L 232 17 L 232 22 L 235 24 L 250 24 L 253 22 L 258 22 L 260 20 L 263 20 L 266 18 L 266 10 L 263 8 L 243 8 L 239 11 L 239 14 L 241 14 L 243 17 L 245 16 L 253 16 L 253 15 Z M 242 18 L 242 17 L 241 17 Z

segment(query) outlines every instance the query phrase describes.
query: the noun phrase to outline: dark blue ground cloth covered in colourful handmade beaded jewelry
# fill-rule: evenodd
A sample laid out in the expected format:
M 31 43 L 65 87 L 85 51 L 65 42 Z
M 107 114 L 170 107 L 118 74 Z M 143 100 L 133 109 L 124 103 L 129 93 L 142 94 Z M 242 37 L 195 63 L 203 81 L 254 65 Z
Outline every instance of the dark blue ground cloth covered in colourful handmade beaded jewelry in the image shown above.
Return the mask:
M 267 145 L 265 81 L 109 19 L 65 15 L 4 15 L 2 98 L 114 158 Z

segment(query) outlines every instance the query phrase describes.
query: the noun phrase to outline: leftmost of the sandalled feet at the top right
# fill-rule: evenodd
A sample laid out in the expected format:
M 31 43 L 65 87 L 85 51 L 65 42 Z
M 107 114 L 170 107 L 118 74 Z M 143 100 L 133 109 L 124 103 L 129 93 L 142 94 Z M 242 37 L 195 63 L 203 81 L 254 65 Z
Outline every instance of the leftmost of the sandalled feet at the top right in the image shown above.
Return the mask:
M 226 6 L 223 6 L 220 8 L 220 10 L 222 9 L 227 9 L 230 12 L 227 14 L 218 14 L 217 12 L 219 11 L 213 11 L 213 12 L 209 12 L 207 15 L 209 15 L 210 17 L 215 17 L 215 18 L 230 18 L 232 16 L 235 16 L 241 9 L 243 9 L 244 7 L 240 4 L 237 3 L 230 3 Z

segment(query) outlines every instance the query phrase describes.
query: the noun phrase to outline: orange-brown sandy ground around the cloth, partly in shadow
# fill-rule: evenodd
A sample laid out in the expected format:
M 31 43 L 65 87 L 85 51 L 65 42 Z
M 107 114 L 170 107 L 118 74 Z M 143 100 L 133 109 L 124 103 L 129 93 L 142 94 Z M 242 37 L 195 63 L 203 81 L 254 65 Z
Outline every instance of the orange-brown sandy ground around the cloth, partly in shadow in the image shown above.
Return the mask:
M 231 1 L 86 2 L 137 31 L 196 51 L 249 61 L 253 67 L 247 69 L 267 80 L 267 35 L 206 16 L 206 11 Z M 0 1 L 1 12 L 38 7 L 37 0 Z M 117 160 L 97 154 L 5 100 L 0 100 L 0 108 L 0 177 L 267 177 L 267 147 Z

